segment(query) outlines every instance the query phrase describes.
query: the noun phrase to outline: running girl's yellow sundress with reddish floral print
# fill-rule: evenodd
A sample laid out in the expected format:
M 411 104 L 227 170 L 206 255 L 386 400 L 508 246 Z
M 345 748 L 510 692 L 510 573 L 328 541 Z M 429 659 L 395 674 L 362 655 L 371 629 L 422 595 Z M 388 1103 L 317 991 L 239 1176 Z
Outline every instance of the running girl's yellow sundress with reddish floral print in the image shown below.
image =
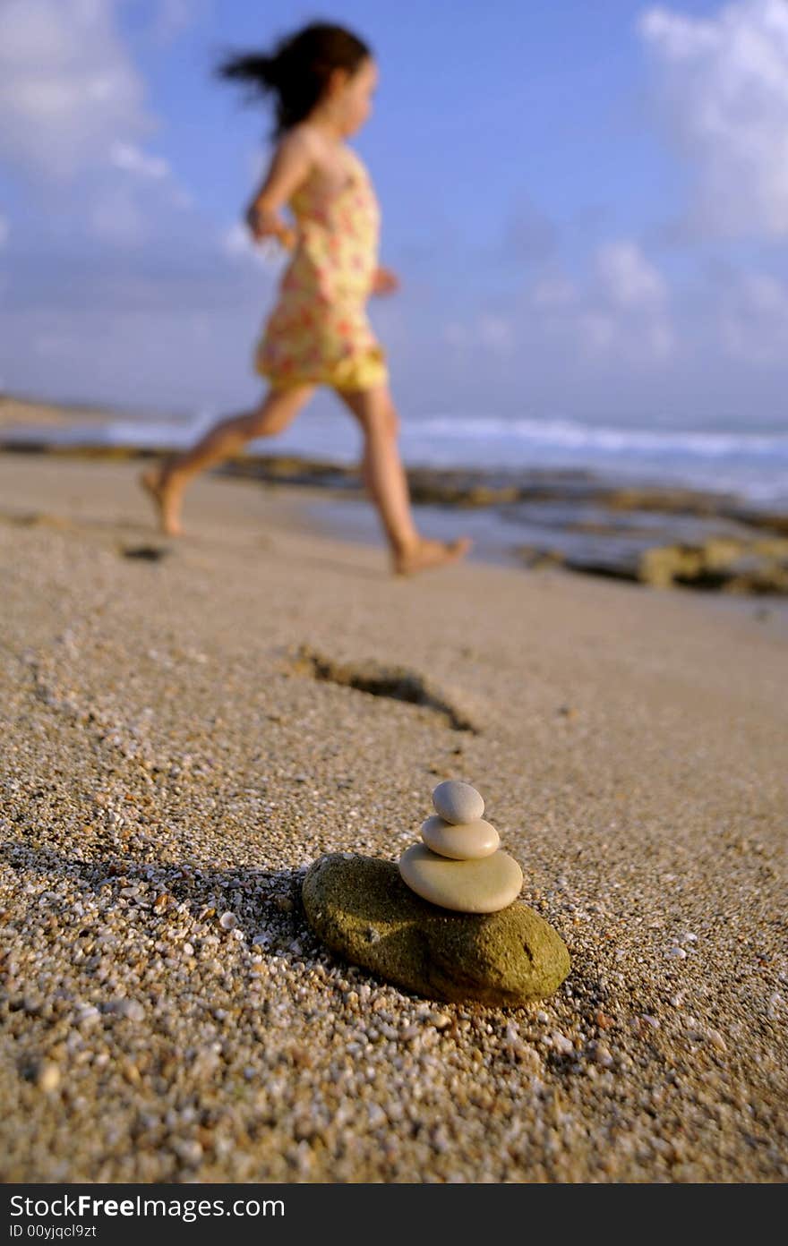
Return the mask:
M 256 353 L 256 370 L 274 388 L 359 390 L 388 381 L 365 312 L 380 211 L 362 159 L 342 151 L 348 179 L 339 192 L 327 198 L 307 183 L 291 199 L 298 240 Z

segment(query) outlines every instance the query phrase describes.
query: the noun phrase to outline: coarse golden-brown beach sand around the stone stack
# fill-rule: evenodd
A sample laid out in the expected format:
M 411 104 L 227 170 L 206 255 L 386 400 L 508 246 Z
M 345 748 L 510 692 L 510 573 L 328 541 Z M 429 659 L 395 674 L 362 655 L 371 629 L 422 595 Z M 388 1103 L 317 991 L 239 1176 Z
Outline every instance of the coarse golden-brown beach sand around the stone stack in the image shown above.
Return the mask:
M 128 558 L 161 545 L 135 476 L 0 459 L 0 1176 L 784 1180 L 782 616 L 398 581 L 302 492 L 218 478 Z M 475 730 L 299 645 L 408 667 Z M 305 927 L 307 863 L 398 857 L 448 776 L 570 948 L 551 999 L 420 1001 Z

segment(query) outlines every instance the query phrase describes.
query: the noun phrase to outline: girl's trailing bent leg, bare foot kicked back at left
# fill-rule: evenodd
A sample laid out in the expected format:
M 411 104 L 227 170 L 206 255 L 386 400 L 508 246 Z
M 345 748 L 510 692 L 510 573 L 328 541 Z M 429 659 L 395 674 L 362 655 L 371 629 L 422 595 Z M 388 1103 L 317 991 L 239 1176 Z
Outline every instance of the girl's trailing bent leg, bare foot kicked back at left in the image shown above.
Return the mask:
M 173 455 L 160 467 L 142 472 L 140 482 L 156 503 L 162 532 L 181 535 L 183 490 L 192 476 L 237 454 L 254 437 L 282 432 L 313 392 L 313 385 L 273 389 L 253 411 L 221 420 L 186 454 Z

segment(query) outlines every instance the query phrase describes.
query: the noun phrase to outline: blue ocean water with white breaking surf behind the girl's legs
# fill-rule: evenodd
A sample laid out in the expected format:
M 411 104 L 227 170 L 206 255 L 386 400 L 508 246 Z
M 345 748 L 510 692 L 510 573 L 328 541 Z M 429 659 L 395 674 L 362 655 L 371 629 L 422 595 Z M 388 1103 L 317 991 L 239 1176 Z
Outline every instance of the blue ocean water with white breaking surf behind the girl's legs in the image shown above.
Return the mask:
M 102 445 L 191 445 L 216 419 L 118 417 L 70 430 L 70 441 Z M 54 440 L 61 440 L 56 437 Z M 307 407 L 274 439 L 249 445 L 261 454 L 299 454 L 349 464 L 360 431 L 339 407 Z M 736 493 L 769 508 L 788 507 L 788 412 L 782 422 L 630 422 L 565 417 L 507 417 L 441 412 L 401 421 L 400 451 L 408 466 L 481 470 L 589 471 L 602 480 L 681 485 Z

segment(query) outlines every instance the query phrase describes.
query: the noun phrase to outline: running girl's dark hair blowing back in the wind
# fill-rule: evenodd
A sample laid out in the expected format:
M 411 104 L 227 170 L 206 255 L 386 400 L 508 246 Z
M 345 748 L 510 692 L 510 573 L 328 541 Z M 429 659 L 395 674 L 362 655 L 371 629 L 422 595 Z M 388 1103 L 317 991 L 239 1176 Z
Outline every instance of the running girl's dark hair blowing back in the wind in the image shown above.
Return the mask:
M 333 70 L 353 75 L 372 56 L 368 45 L 345 30 L 327 22 L 310 22 L 279 40 L 268 55 L 247 52 L 222 61 L 217 74 L 233 82 L 246 82 L 252 96 L 276 96 L 274 137 L 303 121 L 323 96 Z

